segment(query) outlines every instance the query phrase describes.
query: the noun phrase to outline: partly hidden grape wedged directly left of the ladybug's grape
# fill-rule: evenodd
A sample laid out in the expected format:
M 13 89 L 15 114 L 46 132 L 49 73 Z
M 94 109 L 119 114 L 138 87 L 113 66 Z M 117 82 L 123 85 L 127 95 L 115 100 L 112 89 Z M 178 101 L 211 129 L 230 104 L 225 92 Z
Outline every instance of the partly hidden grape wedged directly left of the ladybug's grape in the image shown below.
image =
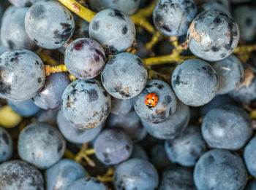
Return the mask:
M 132 110 L 133 107 L 133 99 L 124 99 L 120 100 L 117 98 L 111 97 L 111 114 L 115 115 L 126 115 L 129 113 L 129 111 Z

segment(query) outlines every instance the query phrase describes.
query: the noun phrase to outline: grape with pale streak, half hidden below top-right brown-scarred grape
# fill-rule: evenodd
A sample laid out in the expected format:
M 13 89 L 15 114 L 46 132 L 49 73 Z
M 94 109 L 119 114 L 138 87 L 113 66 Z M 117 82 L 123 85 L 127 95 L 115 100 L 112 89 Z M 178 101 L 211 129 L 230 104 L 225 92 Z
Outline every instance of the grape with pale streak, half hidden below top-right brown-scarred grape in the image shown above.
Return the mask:
M 244 68 L 235 55 L 230 55 L 224 60 L 212 63 L 211 66 L 217 73 L 219 79 L 218 94 L 226 94 L 237 87 L 244 80 Z

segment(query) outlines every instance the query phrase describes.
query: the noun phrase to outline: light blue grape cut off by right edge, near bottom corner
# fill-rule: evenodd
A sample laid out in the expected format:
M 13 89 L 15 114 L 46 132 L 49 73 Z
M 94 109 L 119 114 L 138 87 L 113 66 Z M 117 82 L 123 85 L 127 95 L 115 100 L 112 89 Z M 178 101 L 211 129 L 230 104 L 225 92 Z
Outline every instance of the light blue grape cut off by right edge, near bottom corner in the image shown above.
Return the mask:
M 252 138 L 244 149 L 244 162 L 246 164 L 247 170 L 252 176 L 256 176 L 256 138 Z

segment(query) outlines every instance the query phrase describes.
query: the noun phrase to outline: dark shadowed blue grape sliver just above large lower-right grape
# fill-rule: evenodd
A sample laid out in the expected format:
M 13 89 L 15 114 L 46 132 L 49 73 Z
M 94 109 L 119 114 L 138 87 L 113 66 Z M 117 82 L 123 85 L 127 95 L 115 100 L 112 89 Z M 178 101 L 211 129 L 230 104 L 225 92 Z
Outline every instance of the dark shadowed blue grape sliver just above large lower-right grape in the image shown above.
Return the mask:
M 200 107 L 201 116 L 205 116 L 211 109 L 225 104 L 235 104 L 235 101 L 229 95 L 216 95 L 211 102 Z

